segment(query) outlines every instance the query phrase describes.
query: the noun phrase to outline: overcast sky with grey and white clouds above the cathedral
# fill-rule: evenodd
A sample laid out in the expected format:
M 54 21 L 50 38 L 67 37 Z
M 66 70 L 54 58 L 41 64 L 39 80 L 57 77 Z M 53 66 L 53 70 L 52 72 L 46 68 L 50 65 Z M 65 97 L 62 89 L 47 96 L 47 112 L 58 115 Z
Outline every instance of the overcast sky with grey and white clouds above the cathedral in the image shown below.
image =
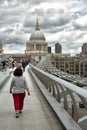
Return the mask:
M 60 43 L 62 53 L 81 52 L 87 42 L 87 0 L 0 0 L 4 53 L 24 53 L 37 17 L 53 51 Z

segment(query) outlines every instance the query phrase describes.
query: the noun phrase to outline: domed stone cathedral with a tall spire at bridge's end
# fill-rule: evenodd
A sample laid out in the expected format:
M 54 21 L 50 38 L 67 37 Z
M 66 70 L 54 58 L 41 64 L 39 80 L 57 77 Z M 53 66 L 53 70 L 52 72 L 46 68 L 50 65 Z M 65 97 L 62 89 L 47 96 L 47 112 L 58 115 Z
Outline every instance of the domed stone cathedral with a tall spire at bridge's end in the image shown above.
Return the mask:
M 43 32 L 40 31 L 38 19 L 36 20 L 35 31 L 31 34 L 29 41 L 26 43 L 26 52 L 31 55 L 35 61 L 41 60 L 47 55 L 48 47 Z

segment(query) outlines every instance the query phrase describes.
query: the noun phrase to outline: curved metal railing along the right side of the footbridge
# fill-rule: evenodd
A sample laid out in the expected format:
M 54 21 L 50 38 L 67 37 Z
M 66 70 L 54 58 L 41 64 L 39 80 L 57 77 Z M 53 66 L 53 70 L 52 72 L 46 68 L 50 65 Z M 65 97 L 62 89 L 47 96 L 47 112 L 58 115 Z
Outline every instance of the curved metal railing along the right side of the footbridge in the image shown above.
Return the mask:
M 87 115 L 86 89 L 48 74 L 33 65 L 31 65 L 31 70 L 76 123 L 81 117 Z

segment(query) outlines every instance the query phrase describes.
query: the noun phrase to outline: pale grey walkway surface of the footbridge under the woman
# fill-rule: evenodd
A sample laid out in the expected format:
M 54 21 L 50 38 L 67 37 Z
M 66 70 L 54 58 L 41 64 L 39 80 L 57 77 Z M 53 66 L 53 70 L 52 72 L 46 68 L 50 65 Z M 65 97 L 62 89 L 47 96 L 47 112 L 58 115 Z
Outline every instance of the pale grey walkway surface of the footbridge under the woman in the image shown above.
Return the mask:
M 24 76 L 31 95 L 26 93 L 21 117 L 15 118 L 13 98 L 9 93 L 12 75 L 0 90 L 0 130 L 63 130 L 27 69 Z

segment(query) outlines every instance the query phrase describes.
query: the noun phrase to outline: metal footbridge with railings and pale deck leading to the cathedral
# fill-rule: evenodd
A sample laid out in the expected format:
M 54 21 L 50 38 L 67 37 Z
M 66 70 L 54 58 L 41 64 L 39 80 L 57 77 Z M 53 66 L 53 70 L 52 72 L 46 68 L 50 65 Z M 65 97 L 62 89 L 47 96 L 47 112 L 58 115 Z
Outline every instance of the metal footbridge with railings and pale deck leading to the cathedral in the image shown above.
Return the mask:
M 87 130 L 87 79 L 57 70 L 50 55 L 26 67 L 30 88 L 23 114 L 15 118 L 9 86 L 13 74 L 0 71 L 0 130 Z

